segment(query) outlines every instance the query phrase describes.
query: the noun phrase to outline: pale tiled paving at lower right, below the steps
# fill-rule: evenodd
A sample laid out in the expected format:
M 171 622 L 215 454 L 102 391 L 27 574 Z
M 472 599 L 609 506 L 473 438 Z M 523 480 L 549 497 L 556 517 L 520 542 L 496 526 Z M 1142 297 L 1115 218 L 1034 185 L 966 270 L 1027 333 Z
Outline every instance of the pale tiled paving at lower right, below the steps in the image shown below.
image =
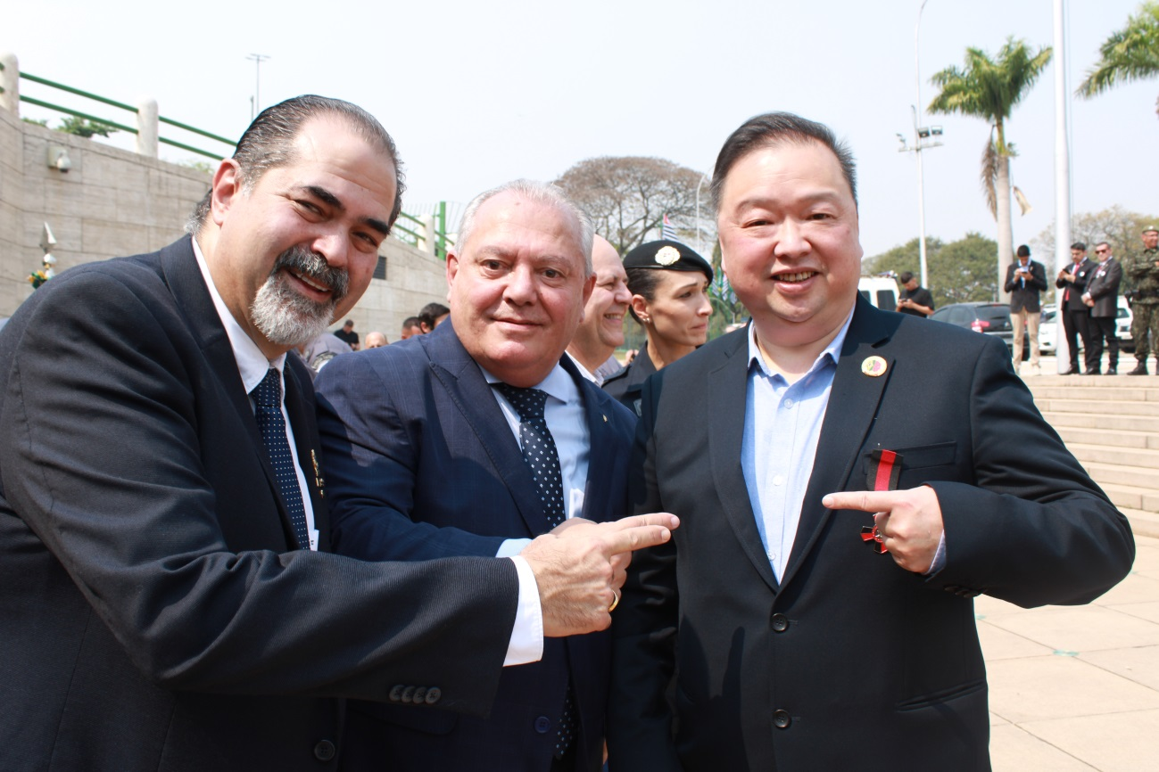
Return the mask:
M 1159 772 L 1159 539 L 1085 606 L 979 597 L 997 772 Z

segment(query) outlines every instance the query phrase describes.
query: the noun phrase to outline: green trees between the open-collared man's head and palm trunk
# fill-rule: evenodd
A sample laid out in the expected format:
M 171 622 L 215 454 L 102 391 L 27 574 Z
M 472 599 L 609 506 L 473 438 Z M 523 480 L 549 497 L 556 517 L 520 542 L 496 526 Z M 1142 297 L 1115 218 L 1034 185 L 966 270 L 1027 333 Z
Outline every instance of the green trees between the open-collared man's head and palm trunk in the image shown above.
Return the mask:
M 992 301 L 998 295 L 994 277 L 994 255 L 998 244 L 977 233 L 968 233 L 964 238 L 946 243 L 940 238 L 926 238 L 926 264 L 930 273 L 930 293 L 938 308 L 949 303 L 972 300 Z M 862 273 L 918 274 L 918 240 L 866 258 Z

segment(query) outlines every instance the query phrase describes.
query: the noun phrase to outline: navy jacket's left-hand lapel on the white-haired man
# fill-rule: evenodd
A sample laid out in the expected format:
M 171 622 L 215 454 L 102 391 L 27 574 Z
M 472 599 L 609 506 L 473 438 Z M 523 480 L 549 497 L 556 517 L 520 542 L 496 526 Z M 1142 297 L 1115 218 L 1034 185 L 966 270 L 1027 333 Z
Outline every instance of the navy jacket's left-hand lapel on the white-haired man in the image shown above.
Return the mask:
M 427 350 L 435 377 L 446 390 L 451 402 L 483 447 L 495 471 L 503 479 L 515 500 L 520 517 L 532 535 L 546 534 L 551 528 L 544 505 L 535 495 L 535 484 L 523 459 L 519 443 L 511 426 L 491 394 L 479 365 L 459 341 L 447 319 L 431 332 L 422 336 L 420 344 Z

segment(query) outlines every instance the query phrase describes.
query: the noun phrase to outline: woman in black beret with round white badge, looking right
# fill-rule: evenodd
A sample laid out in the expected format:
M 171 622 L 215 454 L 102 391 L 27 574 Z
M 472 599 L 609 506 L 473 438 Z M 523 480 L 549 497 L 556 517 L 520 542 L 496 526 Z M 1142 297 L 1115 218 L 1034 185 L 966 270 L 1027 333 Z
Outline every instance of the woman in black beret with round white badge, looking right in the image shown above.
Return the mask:
M 635 360 L 604 382 L 604 389 L 640 414 L 640 392 L 656 370 L 691 354 L 708 339 L 708 285 L 713 266 L 677 241 L 641 244 L 624 258 L 632 317 L 648 343 Z

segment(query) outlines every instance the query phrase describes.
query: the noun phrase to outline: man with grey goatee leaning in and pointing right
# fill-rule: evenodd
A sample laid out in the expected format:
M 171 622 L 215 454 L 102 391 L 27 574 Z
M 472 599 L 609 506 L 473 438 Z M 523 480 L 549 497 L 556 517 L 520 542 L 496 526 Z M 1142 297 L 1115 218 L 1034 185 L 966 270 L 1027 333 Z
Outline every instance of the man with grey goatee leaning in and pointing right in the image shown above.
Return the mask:
M 535 659 L 512 655 L 517 609 L 544 634 L 608 624 L 611 554 L 647 529 L 512 560 L 325 553 L 313 390 L 286 352 L 366 288 L 398 169 L 365 111 L 284 102 L 194 238 L 67 271 L 0 333 L 6 771 L 335 769 L 336 698 L 486 713 L 504 662 Z M 588 568 L 551 567 L 573 557 Z

